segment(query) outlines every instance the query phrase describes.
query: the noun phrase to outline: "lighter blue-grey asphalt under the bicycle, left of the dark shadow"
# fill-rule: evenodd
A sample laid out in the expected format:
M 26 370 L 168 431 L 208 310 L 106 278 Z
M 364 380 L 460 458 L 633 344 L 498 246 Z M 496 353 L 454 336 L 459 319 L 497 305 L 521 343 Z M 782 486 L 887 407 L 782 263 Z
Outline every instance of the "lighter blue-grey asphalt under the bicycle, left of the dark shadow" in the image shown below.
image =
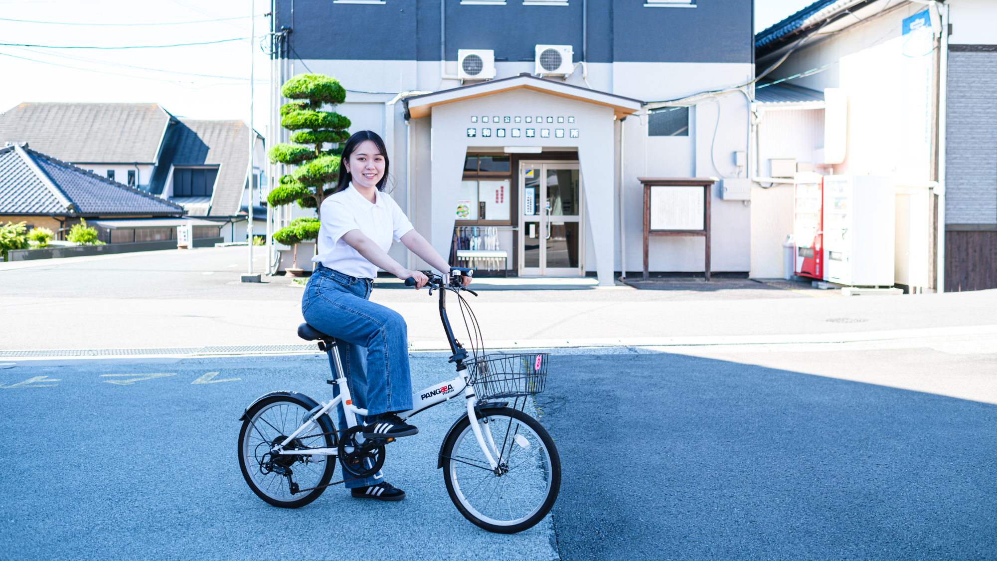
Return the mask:
M 415 358 L 413 369 L 420 388 L 453 377 L 442 357 Z M 208 372 L 214 383 L 193 383 Z M 464 411 L 457 401 L 414 417 L 420 433 L 389 444 L 385 478 L 408 493 L 402 502 L 354 499 L 342 486 L 296 510 L 257 498 L 239 471 L 236 418 L 276 389 L 329 399 L 327 377 L 327 361 L 300 357 L 0 369 L 0 432 L 12 444 L 0 451 L 0 559 L 556 558 L 549 517 L 507 536 L 454 507 L 436 463 Z

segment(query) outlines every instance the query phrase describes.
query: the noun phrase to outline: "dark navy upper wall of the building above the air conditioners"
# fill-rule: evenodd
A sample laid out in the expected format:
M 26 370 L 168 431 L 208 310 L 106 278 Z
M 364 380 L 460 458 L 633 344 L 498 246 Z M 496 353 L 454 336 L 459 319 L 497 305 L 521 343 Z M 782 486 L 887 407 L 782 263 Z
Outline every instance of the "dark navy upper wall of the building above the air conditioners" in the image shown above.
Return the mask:
M 532 60 L 534 45 L 571 45 L 582 54 L 582 2 L 568 7 L 447 2 L 447 60 L 458 49 Z M 293 29 L 302 59 L 440 60 L 440 0 L 276 0 L 277 27 Z M 696 8 L 645 8 L 643 0 L 588 0 L 588 62 L 751 63 L 753 0 L 699 0 Z

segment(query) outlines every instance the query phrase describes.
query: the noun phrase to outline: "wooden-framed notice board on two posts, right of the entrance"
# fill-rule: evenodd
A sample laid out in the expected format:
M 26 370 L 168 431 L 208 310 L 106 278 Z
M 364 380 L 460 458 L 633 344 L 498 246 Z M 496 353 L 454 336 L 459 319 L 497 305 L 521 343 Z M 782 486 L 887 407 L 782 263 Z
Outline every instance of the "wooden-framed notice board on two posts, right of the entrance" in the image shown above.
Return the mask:
M 651 236 L 702 236 L 710 281 L 710 188 L 716 178 L 637 178 L 644 186 L 644 280 Z

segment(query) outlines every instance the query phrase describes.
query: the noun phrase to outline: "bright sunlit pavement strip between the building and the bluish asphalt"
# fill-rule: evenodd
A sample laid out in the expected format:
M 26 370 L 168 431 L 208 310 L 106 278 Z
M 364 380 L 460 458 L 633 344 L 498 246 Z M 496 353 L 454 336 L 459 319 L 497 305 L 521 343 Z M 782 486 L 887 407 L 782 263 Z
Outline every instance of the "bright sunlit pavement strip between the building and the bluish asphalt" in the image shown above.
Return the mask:
M 262 258 L 258 258 L 262 260 Z M 274 278 L 239 282 L 245 248 L 0 271 L 0 348 L 137 348 L 293 344 L 302 288 Z M 262 262 L 260 262 L 262 263 Z M 481 285 L 489 281 L 480 280 Z M 378 282 L 373 297 L 409 323 L 410 340 L 440 341 L 435 298 Z M 492 340 L 689 335 L 782 335 L 986 325 L 997 290 L 905 296 L 828 296 L 754 283 L 704 291 L 484 289 L 468 296 Z M 750 283 L 749 283 L 750 284 Z M 726 284 L 720 283 L 721 286 Z M 451 298 L 453 299 L 453 298 Z M 61 327 L 54 330 L 55 327 Z M 71 327 L 71 328 L 66 328 Z M 463 333 L 463 326 L 457 331 Z M 57 336 L 53 337 L 52 335 Z

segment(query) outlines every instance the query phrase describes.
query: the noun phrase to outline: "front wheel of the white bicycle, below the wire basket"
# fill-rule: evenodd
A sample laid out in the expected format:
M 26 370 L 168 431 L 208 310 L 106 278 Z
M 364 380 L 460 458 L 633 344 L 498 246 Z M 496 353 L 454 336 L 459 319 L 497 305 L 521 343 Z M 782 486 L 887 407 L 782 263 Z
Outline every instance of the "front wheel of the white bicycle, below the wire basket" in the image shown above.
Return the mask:
M 487 443 L 491 434 L 498 469 L 465 417 L 444 444 L 444 480 L 465 518 L 490 532 L 514 534 L 533 527 L 557 500 L 560 457 L 547 431 L 526 413 L 497 407 L 485 415 L 478 423 Z

